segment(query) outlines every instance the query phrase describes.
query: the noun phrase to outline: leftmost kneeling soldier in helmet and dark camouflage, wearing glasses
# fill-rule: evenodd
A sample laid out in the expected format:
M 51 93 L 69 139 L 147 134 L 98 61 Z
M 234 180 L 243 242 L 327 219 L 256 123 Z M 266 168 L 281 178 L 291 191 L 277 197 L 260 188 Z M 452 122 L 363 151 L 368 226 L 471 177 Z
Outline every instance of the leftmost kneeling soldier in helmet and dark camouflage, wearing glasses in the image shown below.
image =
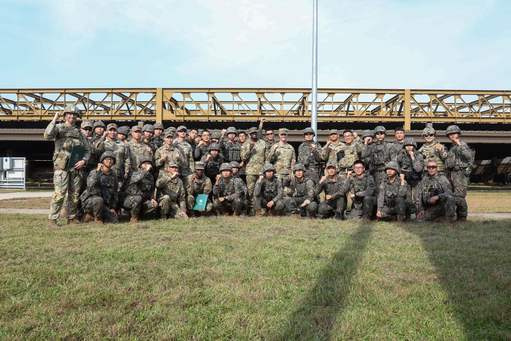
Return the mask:
M 87 189 L 80 195 L 82 207 L 85 210 L 83 222 L 94 220 L 117 224 L 118 181 L 117 174 L 112 169 L 115 165 L 115 154 L 105 151 L 100 158 L 100 164 L 87 177 Z

